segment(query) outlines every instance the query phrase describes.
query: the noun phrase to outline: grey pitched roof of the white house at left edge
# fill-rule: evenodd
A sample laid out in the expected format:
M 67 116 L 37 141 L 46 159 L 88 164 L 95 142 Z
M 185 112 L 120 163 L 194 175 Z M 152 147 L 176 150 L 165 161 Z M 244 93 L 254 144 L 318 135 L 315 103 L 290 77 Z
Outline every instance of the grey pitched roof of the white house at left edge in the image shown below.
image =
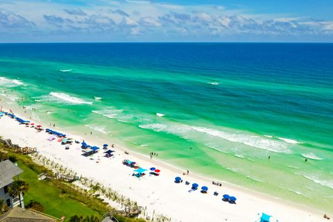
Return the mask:
M 0 162 L 0 188 L 9 185 L 13 177 L 22 173 L 22 169 L 13 164 L 10 160 Z

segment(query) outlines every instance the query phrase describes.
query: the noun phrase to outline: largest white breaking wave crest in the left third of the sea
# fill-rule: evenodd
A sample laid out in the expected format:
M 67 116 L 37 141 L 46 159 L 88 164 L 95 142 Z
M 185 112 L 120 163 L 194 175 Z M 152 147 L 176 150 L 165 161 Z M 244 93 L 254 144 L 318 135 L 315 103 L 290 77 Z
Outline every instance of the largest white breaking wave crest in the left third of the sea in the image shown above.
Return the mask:
M 84 101 L 83 99 L 79 99 L 75 96 L 69 96 L 68 94 L 62 92 L 50 92 L 49 95 L 34 97 L 36 102 L 42 101 L 57 101 L 61 103 L 69 103 L 69 104 L 92 104 L 92 102 Z

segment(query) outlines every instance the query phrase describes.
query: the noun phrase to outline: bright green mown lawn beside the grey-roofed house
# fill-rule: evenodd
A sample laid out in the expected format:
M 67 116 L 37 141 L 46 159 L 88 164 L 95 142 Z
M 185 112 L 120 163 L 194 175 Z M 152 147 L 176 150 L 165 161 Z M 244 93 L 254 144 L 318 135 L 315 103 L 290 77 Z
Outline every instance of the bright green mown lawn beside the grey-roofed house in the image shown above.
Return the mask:
M 99 212 L 90 209 L 78 200 L 67 198 L 62 194 L 62 189 L 55 187 L 52 182 L 37 180 L 37 173 L 22 162 L 18 161 L 17 164 L 24 171 L 20 178 L 29 184 L 28 192 L 24 196 L 24 203 L 28 204 L 30 200 L 37 200 L 44 205 L 45 214 L 58 218 L 66 216 L 66 219 L 69 219 L 74 214 L 100 216 Z

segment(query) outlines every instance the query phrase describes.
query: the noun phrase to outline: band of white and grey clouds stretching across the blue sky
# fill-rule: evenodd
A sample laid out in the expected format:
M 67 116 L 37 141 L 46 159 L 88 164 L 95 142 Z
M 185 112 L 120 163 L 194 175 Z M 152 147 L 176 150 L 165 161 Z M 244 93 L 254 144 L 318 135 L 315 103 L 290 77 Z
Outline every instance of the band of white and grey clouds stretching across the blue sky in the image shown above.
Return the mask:
M 97 3 L 96 3 L 97 2 Z M 20 28 L 26 33 L 35 28 L 43 35 L 66 33 L 114 33 L 151 39 L 191 37 L 202 40 L 225 35 L 298 36 L 333 35 L 333 22 L 314 21 L 308 17 L 248 15 L 223 6 L 182 6 L 155 1 L 94 1 L 88 6 L 52 1 L 15 1 L 0 9 L 2 32 Z M 148 36 L 148 37 L 147 37 Z M 222 39 L 221 39 L 222 40 Z

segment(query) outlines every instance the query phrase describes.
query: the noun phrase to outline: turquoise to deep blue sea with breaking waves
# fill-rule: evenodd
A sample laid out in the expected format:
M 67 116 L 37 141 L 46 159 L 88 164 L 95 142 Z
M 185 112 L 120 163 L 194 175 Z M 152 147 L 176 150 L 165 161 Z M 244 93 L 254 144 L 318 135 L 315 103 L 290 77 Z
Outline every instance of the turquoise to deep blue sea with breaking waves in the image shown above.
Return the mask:
M 329 212 L 332 83 L 333 44 L 0 44 L 33 117 Z

